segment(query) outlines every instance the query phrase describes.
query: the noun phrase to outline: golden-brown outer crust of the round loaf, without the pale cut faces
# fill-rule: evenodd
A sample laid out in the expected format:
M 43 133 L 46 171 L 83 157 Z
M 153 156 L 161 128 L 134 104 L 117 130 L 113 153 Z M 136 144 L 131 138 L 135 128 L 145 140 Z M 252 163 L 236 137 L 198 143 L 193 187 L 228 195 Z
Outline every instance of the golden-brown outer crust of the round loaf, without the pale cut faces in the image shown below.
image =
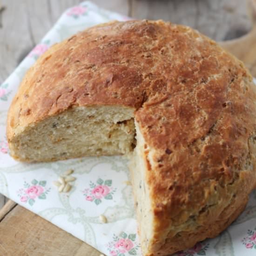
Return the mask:
M 243 209 L 256 185 L 249 143 L 256 135 L 255 102 L 243 64 L 195 30 L 162 21 L 112 22 L 40 57 L 13 100 L 7 137 L 11 143 L 24 128 L 70 107 L 135 107 L 151 150 L 146 178 L 155 236 L 148 255 L 165 255 L 216 236 Z M 186 230 L 177 231 L 179 225 Z

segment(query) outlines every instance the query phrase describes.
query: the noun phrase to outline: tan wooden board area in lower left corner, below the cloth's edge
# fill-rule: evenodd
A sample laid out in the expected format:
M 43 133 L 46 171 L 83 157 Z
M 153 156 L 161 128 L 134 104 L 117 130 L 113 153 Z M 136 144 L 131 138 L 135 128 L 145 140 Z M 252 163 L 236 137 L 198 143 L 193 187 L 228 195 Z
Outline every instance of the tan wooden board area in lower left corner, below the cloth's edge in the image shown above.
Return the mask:
M 100 256 L 100 252 L 88 244 L 15 205 L 9 201 L 7 207 L 0 210 L 0 217 L 4 216 L 0 218 L 0 255 Z

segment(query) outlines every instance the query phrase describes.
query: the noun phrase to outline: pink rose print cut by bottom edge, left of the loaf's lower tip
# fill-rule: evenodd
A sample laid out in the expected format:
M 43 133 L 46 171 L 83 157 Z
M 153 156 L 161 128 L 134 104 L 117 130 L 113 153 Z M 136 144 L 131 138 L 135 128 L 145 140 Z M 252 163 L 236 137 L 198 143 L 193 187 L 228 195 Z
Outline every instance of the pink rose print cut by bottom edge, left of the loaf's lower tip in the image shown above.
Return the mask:
M 136 242 L 136 234 L 121 232 L 120 236 L 114 234 L 113 241 L 106 244 L 111 256 L 137 255 L 139 245 Z

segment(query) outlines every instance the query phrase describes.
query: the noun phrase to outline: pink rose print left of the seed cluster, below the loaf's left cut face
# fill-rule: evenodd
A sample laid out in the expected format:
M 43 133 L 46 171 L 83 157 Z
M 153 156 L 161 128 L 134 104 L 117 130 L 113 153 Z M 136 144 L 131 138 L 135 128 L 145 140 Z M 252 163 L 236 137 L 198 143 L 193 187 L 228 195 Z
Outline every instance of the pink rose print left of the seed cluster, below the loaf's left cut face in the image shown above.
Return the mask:
M 31 206 L 36 202 L 37 199 L 46 199 L 47 194 L 51 188 L 46 189 L 46 181 L 33 180 L 31 184 L 24 182 L 23 188 L 17 191 L 20 197 L 20 202 L 27 203 Z

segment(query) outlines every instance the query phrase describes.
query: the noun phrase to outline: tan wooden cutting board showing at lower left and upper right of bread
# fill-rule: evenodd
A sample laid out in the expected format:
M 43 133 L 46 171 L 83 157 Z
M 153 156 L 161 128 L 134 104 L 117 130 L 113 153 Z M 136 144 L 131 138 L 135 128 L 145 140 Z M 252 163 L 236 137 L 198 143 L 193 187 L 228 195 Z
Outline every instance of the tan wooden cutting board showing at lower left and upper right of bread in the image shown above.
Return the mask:
M 256 77 L 256 0 L 249 8 L 253 28 L 242 38 L 220 43 Z M 100 256 L 81 240 L 9 200 L 0 210 L 0 256 Z

